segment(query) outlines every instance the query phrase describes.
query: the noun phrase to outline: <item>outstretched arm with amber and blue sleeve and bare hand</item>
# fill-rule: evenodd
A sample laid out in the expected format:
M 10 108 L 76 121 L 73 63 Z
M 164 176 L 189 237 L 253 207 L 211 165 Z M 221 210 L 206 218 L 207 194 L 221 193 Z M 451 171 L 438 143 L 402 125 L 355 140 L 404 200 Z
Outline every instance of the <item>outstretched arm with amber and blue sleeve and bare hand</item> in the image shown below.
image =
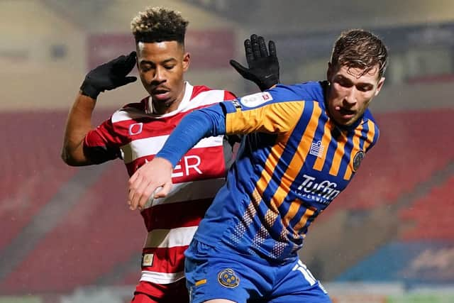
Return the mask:
M 270 93 L 254 94 L 243 99 L 252 104 L 262 95 L 268 97 Z M 155 198 L 165 197 L 172 187 L 172 168 L 201 138 L 236 133 L 285 133 L 294 128 L 303 109 L 301 101 L 263 102 L 249 109 L 241 106 L 241 101 L 225 101 L 185 116 L 155 158 L 129 179 L 130 208 L 142 209 L 152 194 Z M 159 187 L 162 189 L 157 192 Z

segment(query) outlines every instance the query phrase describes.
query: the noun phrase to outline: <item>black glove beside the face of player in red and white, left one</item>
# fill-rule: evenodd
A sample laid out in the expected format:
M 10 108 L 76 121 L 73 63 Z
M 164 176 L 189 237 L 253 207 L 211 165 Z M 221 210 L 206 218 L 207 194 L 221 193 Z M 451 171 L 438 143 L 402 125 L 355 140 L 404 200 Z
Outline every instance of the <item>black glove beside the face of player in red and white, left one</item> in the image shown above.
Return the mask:
M 80 87 L 82 94 L 96 99 L 104 90 L 116 89 L 134 82 L 137 77 L 126 77 L 135 65 L 135 52 L 111 60 L 90 70 Z

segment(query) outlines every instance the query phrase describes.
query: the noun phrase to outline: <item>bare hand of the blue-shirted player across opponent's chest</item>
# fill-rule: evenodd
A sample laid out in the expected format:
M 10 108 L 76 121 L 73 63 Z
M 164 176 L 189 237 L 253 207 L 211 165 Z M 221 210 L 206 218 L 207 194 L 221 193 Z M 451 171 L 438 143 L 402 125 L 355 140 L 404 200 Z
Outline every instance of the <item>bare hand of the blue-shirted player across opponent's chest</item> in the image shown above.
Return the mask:
M 172 163 L 164 158 L 154 158 L 136 170 L 128 182 L 129 208 L 143 210 L 152 194 L 155 199 L 166 197 L 172 188 L 172 170 Z

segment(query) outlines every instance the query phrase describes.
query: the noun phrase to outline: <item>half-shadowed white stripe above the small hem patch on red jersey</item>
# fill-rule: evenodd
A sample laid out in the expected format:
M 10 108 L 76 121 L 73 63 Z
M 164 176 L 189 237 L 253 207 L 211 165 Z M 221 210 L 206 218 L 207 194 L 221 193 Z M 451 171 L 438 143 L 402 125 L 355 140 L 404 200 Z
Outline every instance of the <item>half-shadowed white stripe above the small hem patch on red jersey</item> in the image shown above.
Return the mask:
M 171 248 L 188 246 L 196 233 L 197 226 L 172 229 L 153 229 L 148 232 L 144 248 Z

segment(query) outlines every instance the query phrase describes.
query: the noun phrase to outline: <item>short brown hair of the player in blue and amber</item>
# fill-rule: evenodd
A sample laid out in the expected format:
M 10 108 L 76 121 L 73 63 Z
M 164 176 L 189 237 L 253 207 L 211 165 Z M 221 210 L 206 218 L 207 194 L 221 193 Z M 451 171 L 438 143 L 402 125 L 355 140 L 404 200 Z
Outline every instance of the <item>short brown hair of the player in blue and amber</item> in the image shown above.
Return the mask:
M 353 29 L 341 33 L 334 43 L 331 64 L 363 69 L 362 75 L 378 65 L 378 75 L 382 77 L 388 64 L 388 51 L 377 35 Z

